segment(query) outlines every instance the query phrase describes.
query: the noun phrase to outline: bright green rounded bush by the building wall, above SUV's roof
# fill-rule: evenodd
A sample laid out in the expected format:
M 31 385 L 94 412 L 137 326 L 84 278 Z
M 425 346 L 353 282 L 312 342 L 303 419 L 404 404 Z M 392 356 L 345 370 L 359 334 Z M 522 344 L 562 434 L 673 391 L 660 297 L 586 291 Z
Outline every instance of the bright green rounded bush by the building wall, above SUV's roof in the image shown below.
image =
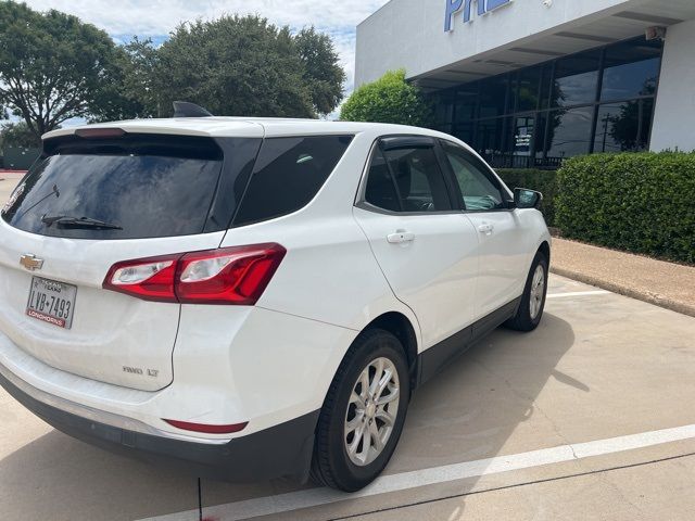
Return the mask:
M 421 90 L 405 80 L 405 69 L 390 71 L 355 90 L 343 104 L 340 118 L 427 126 L 431 106 Z

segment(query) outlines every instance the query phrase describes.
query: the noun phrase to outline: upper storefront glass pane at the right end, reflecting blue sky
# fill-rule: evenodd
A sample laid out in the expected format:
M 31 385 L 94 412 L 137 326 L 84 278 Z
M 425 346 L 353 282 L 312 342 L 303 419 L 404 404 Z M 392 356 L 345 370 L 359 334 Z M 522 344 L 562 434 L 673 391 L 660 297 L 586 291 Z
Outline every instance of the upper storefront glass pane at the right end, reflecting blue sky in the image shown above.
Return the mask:
M 602 101 L 654 96 L 661 43 L 619 45 L 606 50 Z

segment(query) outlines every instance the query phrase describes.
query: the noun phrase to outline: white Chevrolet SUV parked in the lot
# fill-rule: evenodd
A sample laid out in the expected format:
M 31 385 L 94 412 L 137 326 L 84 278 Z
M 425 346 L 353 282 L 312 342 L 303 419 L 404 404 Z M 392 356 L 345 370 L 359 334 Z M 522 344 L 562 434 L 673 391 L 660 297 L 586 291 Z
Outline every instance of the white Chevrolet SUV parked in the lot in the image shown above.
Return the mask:
M 540 201 L 421 128 L 50 132 L 0 218 L 0 383 L 105 448 L 358 490 L 418 385 L 497 326 L 538 326 Z

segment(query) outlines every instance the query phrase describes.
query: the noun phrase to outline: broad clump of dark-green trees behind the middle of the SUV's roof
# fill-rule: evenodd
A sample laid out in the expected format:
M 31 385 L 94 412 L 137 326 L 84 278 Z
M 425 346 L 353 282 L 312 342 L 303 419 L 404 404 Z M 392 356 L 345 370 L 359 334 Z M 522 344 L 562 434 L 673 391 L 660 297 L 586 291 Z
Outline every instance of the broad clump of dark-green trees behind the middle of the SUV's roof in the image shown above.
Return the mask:
M 260 16 L 199 20 L 157 50 L 153 90 L 163 115 L 186 100 L 215 115 L 315 117 L 340 101 L 337 59 L 313 29 L 295 37 Z

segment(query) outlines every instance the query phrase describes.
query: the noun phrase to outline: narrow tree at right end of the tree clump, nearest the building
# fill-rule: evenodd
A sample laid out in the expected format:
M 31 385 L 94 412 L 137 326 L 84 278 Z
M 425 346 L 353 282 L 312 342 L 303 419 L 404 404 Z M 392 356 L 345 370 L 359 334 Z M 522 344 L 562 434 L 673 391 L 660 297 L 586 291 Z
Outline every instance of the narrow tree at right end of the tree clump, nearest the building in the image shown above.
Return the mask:
M 343 99 L 345 82 L 345 72 L 338 64 L 333 42 L 314 27 L 302 29 L 294 41 L 304 63 L 304 81 L 311 89 L 314 110 L 318 114 L 329 114 Z

